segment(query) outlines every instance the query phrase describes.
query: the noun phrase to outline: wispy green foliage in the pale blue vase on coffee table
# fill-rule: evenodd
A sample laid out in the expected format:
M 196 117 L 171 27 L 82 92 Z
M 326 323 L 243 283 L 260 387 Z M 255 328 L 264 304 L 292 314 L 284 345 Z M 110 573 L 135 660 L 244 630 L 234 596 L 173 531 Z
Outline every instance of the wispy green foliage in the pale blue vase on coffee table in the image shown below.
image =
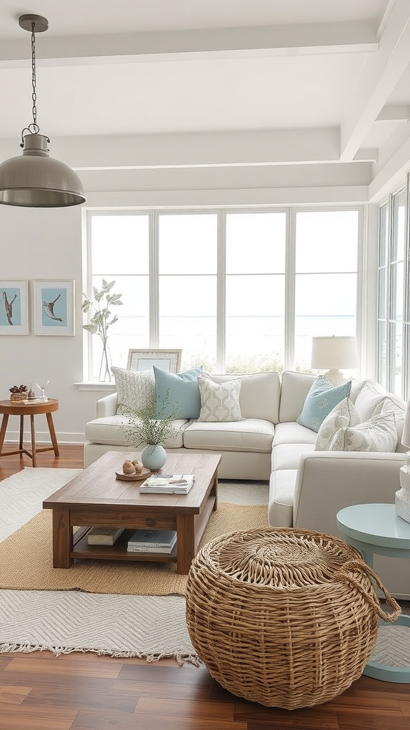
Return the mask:
M 176 436 L 179 429 L 174 421 L 180 417 L 178 404 L 174 404 L 169 413 L 169 396 L 163 402 L 163 407 L 158 411 L 155 399 L 150 401 L 146 407 L 139 410 L 132 410 L 123 407 L 124 415 L 128 418 L 130 427 L 124 429 L 127 439 L 139 446 L 142 443 L 158 445 L 166 442 L 166 439 Z M 167 412 L 169 415 L 163 415 Z

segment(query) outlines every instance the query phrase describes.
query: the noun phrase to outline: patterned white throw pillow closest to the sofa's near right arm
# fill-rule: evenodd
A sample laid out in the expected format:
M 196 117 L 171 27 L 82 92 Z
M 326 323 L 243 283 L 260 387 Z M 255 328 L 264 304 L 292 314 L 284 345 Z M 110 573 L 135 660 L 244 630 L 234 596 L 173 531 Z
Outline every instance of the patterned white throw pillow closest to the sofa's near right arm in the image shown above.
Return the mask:
M 329 451 L 388 451 L 397 447 L 394 413 L 375 415 L 357 426 L 339 429 L 330 440 Z

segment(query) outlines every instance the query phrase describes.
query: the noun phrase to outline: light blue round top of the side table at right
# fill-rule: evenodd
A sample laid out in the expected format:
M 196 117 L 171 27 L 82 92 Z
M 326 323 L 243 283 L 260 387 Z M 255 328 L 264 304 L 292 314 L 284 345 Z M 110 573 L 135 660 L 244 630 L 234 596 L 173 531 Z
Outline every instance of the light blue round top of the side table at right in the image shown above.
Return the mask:
M 410 523 L 398 517 L 395 504 L 353 504 L 340 510 L 339 529 L 369 545 L 410 549 Z

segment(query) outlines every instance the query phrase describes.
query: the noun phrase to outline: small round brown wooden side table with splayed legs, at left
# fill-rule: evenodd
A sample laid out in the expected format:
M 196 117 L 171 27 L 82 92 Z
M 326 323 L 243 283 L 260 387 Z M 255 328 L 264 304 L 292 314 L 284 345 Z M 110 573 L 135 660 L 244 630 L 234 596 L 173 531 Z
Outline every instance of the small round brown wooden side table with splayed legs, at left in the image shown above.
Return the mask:
M 46 403 L 19 403 L 13 401 L 0 401 L 0 414 L 3 414 L 3 420 L 0 428 L 0 457 L 1 456 L 12 456 L 12 454 L 26 454 L 33 461 L 33 466 L 36 466 L 36 454 L 41 451 L 54 450 L 55 456 L 60 456 L 58 451 L 57 437 L 55 436 L 55 429 L 53 423 L 53 411 L 58 410 L 58 401 L 55 398 L 49 398 Z M 47 418 L 48 430 L 50 431 L 50 437 L 52 446 L 45 446 L 40 449 L 36 448 L 36 433 L 34 430 L 34 416 L 45 413 Z M 18 442 L 18 449 L 15 451 L 3 451 L 4 439 L 6 437 L 7 423 L 9 415 L 20 416 L 20 439 Z M 31 453 L 23 447 L 23 433 L 24 433 L 24 416 L 30 416 L 31 425 Z

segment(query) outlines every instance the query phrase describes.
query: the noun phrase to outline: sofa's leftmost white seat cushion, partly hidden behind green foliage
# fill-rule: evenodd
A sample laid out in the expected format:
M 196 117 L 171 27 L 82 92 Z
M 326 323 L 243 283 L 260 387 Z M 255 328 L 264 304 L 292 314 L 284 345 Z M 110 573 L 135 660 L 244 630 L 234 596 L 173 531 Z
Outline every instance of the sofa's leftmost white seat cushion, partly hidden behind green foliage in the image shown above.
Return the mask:
M 174 421 L 177 433 L 166 439 L 163 444 L 165 449 L 179 448 L 183 445 L 183 433 L 188 423 L 190 423 L 188 420 Z M 130 419 L 123 415 L 96 418 L 96 420 L 90 420 L 85 426 L 85 438 L 95 444 L 129 446 L 133 443 L 133 439 L 129 435 L 130 425 Z

